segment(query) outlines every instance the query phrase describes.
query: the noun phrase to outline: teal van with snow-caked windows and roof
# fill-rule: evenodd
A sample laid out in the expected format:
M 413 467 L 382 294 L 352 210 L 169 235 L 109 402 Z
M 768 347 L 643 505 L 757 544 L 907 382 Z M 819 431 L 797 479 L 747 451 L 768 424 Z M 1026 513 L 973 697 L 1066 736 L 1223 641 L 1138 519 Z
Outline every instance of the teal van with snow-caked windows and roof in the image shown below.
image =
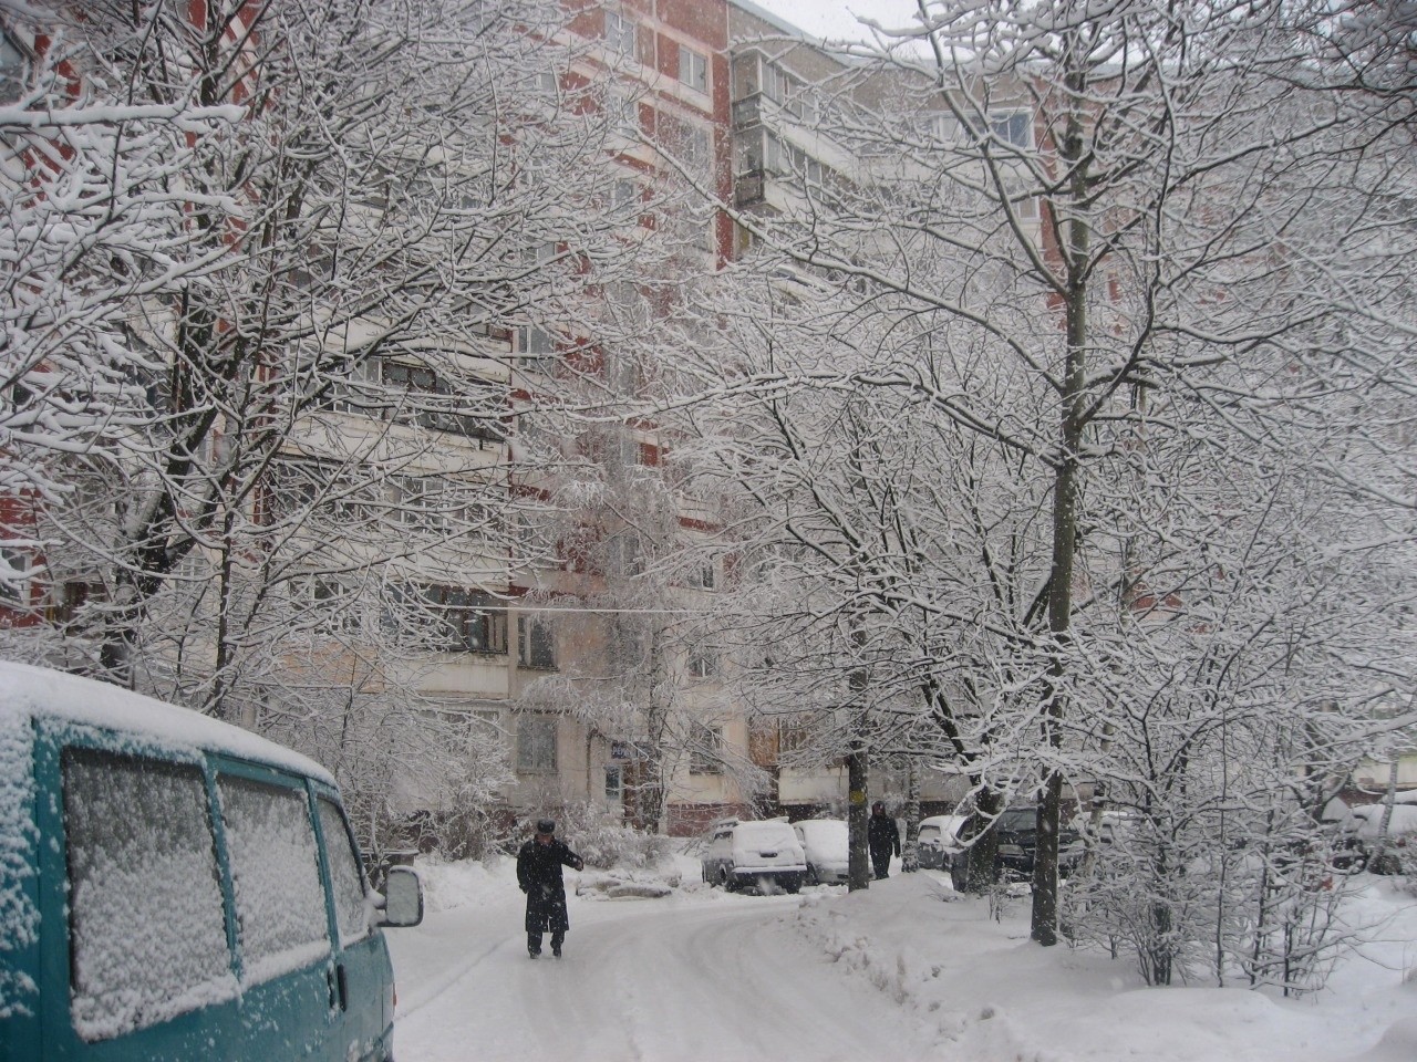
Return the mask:
M 0 661 L 0 1059 L 388 1059 L 381 926 L 334 779 L 184 708 Z

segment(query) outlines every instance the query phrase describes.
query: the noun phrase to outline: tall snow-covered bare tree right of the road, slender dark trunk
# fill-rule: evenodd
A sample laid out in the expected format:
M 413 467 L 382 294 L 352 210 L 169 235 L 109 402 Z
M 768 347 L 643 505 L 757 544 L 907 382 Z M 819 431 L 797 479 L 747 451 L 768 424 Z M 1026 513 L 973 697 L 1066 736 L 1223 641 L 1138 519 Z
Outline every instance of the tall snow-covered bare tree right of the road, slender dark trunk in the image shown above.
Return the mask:
M 972 731 L 961 755 L 1040 803 L 1043 943 L 1057 933 L 1064 797 L 1142 784 L 1117 765 L 1141 741 L 1118 718 L 1166 704 L 1186 729 L 1203 702 L 1255 698 L 1268 722 L 1250 731 L 1250 763 L 1270 783 L 1331 777 L 1367 739 L 1370 684 L 1410 681 L 1411 661 L 1377 649 L 1411 592 L 1406 103 L 1299 44 L 1328 13 L 921 3 L 917 27 L 881 31 L 822 86 L 835 105 L 816 133 L 856 161 L 802 166 L 778 214 L 740 215 L 774 268 L 801 270 L 802 293 L 781 304 L 802 324 L 764 323 L 740 344 L 740 375 L 701 391 L 754 395 L 767 425 L 740 418 L 737 449 L 711 446 L 768 498 L 781 463 L 755 460 L 760 439 L 791 438 L 777 411 L 818 404 L 815 421 L 794 419 L 833 435 L 801 436 L 811 489 L 779 524 L 846 528 L 833 541 L 852 566 L 822 573 L 879 572 L 871 613 L 897 644 L 934 632 L 920 677 L 949 726 Z M 857 436 L 888 443 L 847 507 L 852 404 L 870 411 Z M 944 490 L 905 479 L 922 453 Z M 1345 534 L 1309 542 L 1315 513 L 1339 506 Z M 901 547 L 917 538 L 918 554 Z M 1349 579 L 1387 592 L 1359 596 Z M 839 585 L 842 630 L 866 596 Z M 1357 629 L 1377 651 L 1340 637 Z M 1304 680 L 1274 681 L 1301 661 Z M 836 681 L 859 663 L 843 658 Z M 1179 673 L 1200 701 L 1158 692 Z M 1315 675 L 1346 690 L 1316 700 Z M 1224 762 L 1220 748 L 1192 753 L 1179 739 L 1156 767 L 1168 814 L 1195 817 L 1190 773 Z M 1282 796 L 1250 806 L 1254 835 L 1312 810 L 1294 786 L 1268 792 Z M 1159 845 L 1146 858 L 1183 885 L 1185 861 Z M 1163 936 L 1165 906 L 1148 916 Z

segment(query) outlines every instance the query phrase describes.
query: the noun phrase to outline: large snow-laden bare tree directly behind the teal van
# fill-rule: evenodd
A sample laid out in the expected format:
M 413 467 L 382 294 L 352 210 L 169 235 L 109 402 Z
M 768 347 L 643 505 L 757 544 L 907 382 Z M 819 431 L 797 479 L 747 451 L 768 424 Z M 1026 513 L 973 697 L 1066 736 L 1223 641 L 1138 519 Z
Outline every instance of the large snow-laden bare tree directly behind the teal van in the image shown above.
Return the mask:
M 445 741 L 419 691 L 448 651 L 506 654 L 513 573 L 553 556 L 519 515 L 546 452 L 506 439 L 536 355 L 636 262 L 612 86 L 553 0 L 77 7 L 44 27 L 77 98 L 6 115 L 91 201 L 37 147 L 7 205 L 85 207 L 113 249 L 35 222 L 54 290 L 7 275 L 96 336 L 31 314 L 14 362 L 54 622 L 7 651 L 286 738 L 356 804 L 411 765 L 485 799 L 502 742 Z M 82 120 L 105 136 L 65 144 Z

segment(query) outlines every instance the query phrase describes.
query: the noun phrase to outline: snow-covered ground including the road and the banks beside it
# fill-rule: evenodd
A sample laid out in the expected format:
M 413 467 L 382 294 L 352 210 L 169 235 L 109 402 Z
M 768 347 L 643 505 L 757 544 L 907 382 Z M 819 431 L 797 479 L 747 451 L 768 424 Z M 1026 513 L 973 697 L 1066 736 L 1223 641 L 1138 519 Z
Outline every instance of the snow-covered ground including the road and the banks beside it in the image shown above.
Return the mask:
M 1030 943 L 1026 898 L 995 922 L 931 871 L 728 895 L 679 857 L 619 898 L 609 875 L 568 872 L 565 959 L 531 961 L 510 860 L 419 869 L 429 913 L 387 935 L 404 1062 L 1417 1059 L 1417 901 L 1391 879 L 1353 899 L 1374 927 L 1362 954 L 1285 1000 L 1148 988 L 1125 959 Z

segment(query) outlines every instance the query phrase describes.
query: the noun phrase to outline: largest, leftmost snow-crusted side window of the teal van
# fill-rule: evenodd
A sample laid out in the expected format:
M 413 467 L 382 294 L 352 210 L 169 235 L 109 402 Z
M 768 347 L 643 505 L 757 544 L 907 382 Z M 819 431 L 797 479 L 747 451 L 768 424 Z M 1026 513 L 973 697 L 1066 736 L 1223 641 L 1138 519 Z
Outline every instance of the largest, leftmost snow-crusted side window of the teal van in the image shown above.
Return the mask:
M 64 750 L 74 1029 L 108 1039 L 235 995 L 201 772 Z

